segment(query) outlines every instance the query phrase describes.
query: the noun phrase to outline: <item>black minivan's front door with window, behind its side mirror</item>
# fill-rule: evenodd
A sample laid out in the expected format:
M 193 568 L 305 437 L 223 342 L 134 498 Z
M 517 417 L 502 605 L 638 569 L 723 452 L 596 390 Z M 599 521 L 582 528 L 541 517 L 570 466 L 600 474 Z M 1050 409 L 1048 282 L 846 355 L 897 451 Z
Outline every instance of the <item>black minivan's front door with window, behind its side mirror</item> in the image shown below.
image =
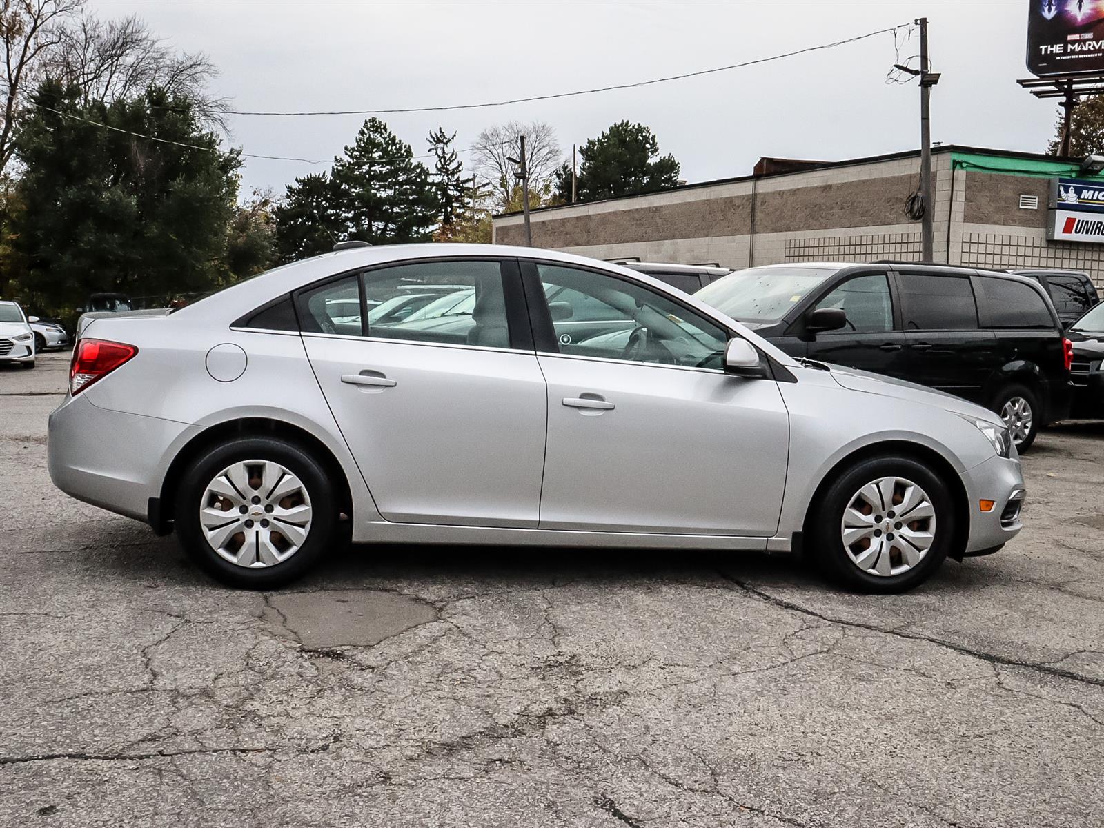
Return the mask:
M 829 288 L 806 314 L 819 308 L 841 309 L 847 325 L 817 333 L 808 342 L 809 357 L 888 376 L 907 376 L 905 336 L 894 312 L 887 272 L 849 276 Z

